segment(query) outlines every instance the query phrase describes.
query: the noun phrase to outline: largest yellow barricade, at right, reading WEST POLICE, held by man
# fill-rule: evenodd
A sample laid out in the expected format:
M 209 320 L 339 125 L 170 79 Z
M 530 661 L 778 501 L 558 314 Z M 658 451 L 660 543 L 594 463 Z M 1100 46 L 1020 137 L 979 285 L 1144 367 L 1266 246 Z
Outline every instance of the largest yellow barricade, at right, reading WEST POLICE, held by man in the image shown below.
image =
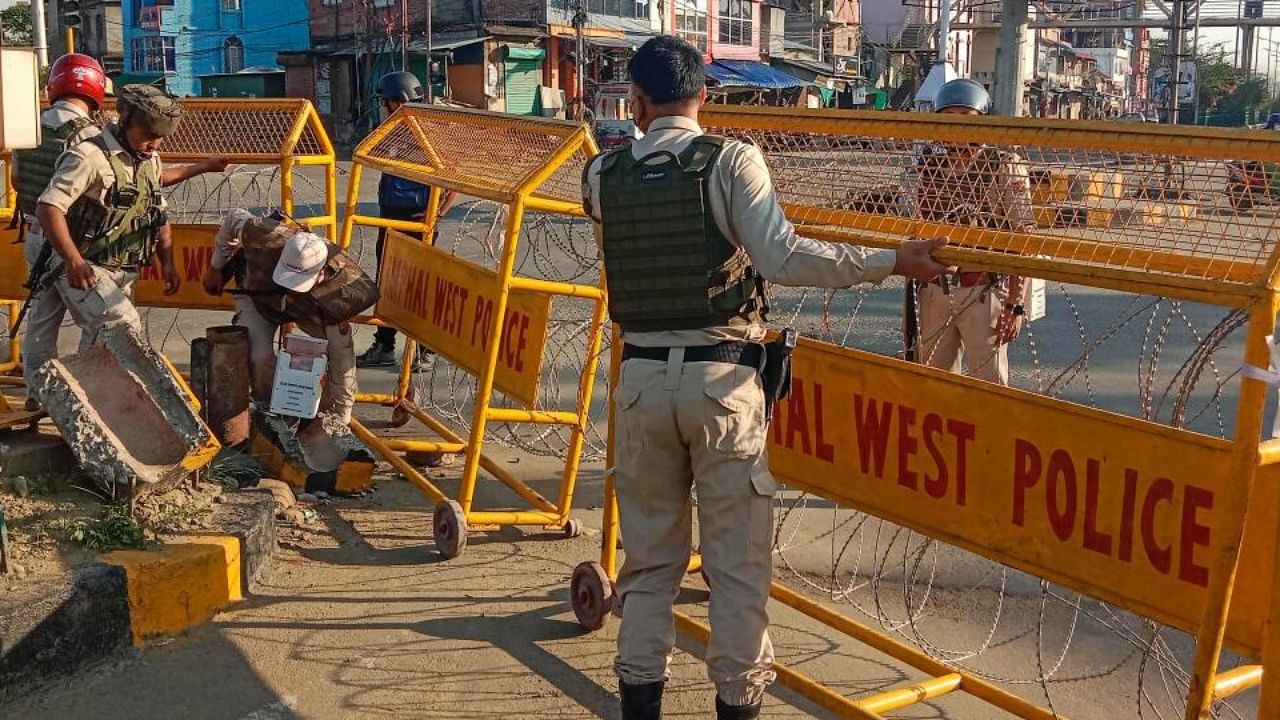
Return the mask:
M 945 237 L 937 256 L 951 264 L 1207 304 L 1228 314 L 1224 336 L 1244 328 L 1243 369 L 1224 373 L 1215 395 L 1239 383 L 1233 437 L 1212 437 L 1188 429 L 1176 406 L 1161 423 L 1158 413 L 1126 416 L 841 347 L 838 322 L 824 315 L 819 324 L 835 342 L 801 341 L 768 452 L 788 489 L 1194 635 L 1188 720 L 1258 684 L 1258 717 L 1280 716 L 1280 670 L 1262 664 L 1280 653 L 1280 623 L 1268 621 L 1280 610 L 1280 441 L 1262 439 L 1265 407 L 1275 402 L 1268 383 L 1280 379 L 1270 369 L 1280 214 L 1256 208 L 1266 191 L 1245 188 L 1238 174 L 1245 161 L 1280 161 L 1280 142 L 1247 131 L 764 108 L 707 108 L 701 120 L 762 149 L 801 234 L 883 249 Z M 928 220 L 904 205 L 904 196 L 920 197 L 922 158 L 978 146 L 1016 154 L 1029 168 L 1037 229 Z M 1070 179 L 1060 186 L 1060 177 Z M 1242 193 L 1257 196 L 1242 208 Z M 1183 370 L 1196 363 L 1204 359 Z M 612 455 L 611 402 L 611 468 Z M 571 588 L 588 629 L 614 603 L 612 471 L 605 496 L 600 561 L 580 565 Z M 699 568 L 695 556 L 690 571 Z M 1018 717 L 1061 716 L 780 582 L 771 596 L 929 676 L 845 697 L 780 664 L 783 685 L 838 716 L 882 717 L 956 691 Z M 708 637 L 686 614 L 677 612 L 677 625 Z M 1252 661 L 1220 671 L 1224 647 Z

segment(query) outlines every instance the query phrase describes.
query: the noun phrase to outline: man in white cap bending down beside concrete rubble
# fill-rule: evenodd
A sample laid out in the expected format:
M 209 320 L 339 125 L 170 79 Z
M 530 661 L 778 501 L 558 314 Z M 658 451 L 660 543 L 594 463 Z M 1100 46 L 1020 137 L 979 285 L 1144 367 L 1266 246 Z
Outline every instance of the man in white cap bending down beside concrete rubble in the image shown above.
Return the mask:
M 214 236 L 205 272 L 210 295 L 234 279 L 234 324 L 248 329 L 253 400 L 269 407 L 275 333 L 285 323 L 328 341 L 328 383 L 320 413 L 346 425 L 356 405 L 356 346 L 351 320 L 378 301 L 360 264 L 323 237 L 276 218 L 232 210 Z

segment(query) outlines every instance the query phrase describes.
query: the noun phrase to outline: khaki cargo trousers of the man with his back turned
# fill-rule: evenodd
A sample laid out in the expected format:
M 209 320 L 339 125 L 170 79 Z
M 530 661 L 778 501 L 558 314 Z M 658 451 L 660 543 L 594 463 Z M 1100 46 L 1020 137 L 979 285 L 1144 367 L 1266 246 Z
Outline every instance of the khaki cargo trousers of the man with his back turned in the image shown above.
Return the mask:
M 696 491 L 712 587 L 707 673 L 721 700 L 746 705 L 774 678 L 765 603 L 777 483 L 764 450 L 764 393 L 754 368 L 682 360 L 681 348 L 666 363 L 627 360 L 614 393 L 625 553 L 614 671 L 628 684 L 668 678 Z

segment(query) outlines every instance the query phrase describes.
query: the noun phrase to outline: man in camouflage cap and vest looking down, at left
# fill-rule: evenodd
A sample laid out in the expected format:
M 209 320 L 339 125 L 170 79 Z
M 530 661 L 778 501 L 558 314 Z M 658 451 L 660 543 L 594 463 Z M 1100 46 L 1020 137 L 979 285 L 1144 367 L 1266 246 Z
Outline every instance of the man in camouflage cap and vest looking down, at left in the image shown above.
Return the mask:
M 102 328 L 127 324 L 141 331 L 133 283 L 152 256 L 160 260 L 166 293 L 178 292 L 180 283 L 156 151 L 178 128 L 182 106 L 145 85 L 124 87 L 116 106 L 119 123 L 59 158 L 36 210 L 56 252 L 41 283 L 51 283 L 86 345 Z

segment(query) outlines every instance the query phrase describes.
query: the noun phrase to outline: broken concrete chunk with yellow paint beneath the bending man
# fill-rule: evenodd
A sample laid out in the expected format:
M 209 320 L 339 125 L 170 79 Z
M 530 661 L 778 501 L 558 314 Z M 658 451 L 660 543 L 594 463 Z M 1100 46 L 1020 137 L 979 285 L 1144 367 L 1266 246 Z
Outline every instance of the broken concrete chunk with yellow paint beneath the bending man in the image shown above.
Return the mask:
M 349 495 L 372 486 L 372 451 L 346 425 L 328 423 L 323 429 L 307 433 L 312 442 L 305 448 L 284 418 L 255 413 L 253 456 L 268 474 L 298 491 Z

